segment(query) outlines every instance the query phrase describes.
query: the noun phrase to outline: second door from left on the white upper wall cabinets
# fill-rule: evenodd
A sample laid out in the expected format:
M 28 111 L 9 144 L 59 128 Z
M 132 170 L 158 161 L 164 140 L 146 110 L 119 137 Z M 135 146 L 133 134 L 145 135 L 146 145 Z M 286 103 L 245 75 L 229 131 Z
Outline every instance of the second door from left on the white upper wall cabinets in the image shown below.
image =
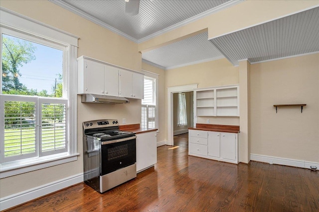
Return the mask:
M 105 66 L 105 95 L 119 95 L 119 69 Z

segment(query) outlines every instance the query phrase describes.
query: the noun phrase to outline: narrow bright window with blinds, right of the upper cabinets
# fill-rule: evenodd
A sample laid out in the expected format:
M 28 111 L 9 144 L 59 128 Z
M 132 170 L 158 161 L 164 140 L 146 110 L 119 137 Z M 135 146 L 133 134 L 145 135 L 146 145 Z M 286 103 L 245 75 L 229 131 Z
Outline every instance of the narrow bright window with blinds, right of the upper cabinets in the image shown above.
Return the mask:
M 156 79 L 144 77 L 144 99 L 142 99 L 141 128 L 156 128 Z

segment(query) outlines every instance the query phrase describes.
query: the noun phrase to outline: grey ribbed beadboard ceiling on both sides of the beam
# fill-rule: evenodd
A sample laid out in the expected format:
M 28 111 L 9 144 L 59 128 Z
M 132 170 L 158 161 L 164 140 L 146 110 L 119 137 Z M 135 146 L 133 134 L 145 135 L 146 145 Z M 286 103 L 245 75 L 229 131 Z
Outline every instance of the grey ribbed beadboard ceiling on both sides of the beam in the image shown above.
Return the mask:
M 141 0 L 136 16 L 125 0 L 50 0 L 141 43 L 243 0 Z M 319 52 L 319 7 L 208 40 L 207 32 L 143 53 L 143 62 L 168 70 L 226 58 L 234 66 Z

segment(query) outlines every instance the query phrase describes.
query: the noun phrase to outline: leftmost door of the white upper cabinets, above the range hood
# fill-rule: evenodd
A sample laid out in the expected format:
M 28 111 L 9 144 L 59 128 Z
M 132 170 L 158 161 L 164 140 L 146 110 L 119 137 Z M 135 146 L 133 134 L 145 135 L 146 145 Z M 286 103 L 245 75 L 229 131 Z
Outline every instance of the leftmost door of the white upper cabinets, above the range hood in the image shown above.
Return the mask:
M 84 92 L 104 95 L 104 64 L 85 60 L 84 66 Z

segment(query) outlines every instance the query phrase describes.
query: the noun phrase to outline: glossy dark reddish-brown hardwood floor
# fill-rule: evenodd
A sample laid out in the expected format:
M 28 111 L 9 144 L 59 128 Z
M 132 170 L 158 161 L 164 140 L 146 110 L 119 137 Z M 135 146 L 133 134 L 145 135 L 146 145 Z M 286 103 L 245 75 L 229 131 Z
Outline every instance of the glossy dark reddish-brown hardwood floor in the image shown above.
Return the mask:
M 155 168 L 104 194 L 80 183 L 9 211 L 319 212 L 318 172 L 187 153 L 185 147 L 160 146 Z

